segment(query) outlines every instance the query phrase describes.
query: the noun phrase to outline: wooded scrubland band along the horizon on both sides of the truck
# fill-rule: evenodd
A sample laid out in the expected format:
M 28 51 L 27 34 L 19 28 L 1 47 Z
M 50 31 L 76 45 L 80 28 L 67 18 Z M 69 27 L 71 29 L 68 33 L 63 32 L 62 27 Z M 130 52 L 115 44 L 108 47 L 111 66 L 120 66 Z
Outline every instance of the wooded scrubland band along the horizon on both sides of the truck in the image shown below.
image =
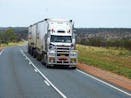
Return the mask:
M 0 44 L 27 40 L 27 27 L 0 28 Z M 131 49 L 131 29 L 128 28 L 76 28 L 77 43 L 98 47 Z

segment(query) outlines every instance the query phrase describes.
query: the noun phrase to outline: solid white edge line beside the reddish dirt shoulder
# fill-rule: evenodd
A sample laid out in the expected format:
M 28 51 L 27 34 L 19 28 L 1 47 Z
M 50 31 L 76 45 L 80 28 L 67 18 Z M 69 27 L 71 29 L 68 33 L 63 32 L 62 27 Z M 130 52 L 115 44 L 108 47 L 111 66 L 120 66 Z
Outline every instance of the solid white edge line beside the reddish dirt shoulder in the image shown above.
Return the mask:
M 103 83 L 103 84 L 105 84 L 105 85 L 113 88 L 113 89 L 116 89 L 116 90 L 118 90 L 118 91 L 120 91 L 120 92 L 122 92 L 122 93 L 124 93 L 124 94 L 126 94 L 126 95 L 128 95 L 128 96 L 131 96 L 131 93 L 128 93 L 128 92 L 126 92 L 126 91 L 124 91 L 124 90 L 122 90 L 122 89 L 120 89 L 120 88 L 118 88 L 118 87 L 116 87 L 116 86 L 113 86 L 113 85 L 111 85 L 111 84 L 109 84 L 109 83 L 107 83 L 107 82 L 105 82 L 105 81 L 103 81 L 103 80 L 100 80 L 100 79 L 98 79 L 98 78 L 96 78 L 96 77 L 94 77 L 94 76 L 92 76 L 92 75 L 90 75 L 90 74 L 88 74 L 88 73 L 85 73 L 85 72 L 83 72 L 83 71 L 81 71 L 81 70 L 78 70 L 78 69 L 76 69 L 76 70 L 77 70 L 78 72 L 80 72 L 80 73 L 82 73 L 82 74 L 84 74 L 84 75 L 92 78 L 92 79 L 95 79 L 95 80 L 97 80 L 97 81 L 99 81 L 99 82 L 101 82 L 101 83 Z

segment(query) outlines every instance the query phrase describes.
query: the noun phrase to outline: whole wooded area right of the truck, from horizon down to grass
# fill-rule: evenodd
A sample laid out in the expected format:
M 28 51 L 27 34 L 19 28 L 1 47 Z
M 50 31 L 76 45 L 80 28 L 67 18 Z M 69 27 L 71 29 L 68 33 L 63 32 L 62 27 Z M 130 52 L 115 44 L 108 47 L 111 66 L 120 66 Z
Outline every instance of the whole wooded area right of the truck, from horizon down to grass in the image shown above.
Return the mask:
M 130 28 L 77 28 L 76 34 L 79 44 L 131 50 Z

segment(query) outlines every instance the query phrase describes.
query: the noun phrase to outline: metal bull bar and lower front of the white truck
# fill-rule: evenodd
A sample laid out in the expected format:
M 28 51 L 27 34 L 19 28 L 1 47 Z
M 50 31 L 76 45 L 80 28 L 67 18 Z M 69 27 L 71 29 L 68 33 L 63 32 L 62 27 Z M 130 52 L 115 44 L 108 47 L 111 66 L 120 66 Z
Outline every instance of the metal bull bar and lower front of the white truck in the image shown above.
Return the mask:
M 78 63 L 78 51 L 70 47 L 56 47 L 47 53 L 47 63 L 52 65 L 76 65 Z

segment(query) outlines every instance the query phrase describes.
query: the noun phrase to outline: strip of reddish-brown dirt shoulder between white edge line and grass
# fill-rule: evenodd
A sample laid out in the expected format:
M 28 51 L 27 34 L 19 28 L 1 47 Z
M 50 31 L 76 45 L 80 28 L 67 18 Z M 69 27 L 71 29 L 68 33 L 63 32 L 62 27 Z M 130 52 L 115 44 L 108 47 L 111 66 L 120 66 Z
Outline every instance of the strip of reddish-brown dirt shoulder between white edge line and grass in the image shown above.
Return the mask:
M 131 79 L 82 63 L 79 63 L 77 68 L 102 80 L 110 82 L 111 84 L 131 91 Z

